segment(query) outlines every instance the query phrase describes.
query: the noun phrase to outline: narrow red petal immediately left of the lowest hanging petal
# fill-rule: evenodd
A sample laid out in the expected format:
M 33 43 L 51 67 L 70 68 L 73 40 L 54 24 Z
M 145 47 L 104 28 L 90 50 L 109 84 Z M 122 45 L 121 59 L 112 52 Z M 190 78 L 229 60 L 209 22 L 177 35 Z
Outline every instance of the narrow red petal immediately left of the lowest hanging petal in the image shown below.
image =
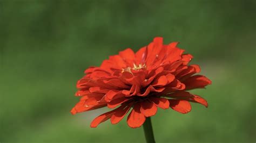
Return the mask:
M 118 110 L 116 110 L 116 113 L 114 113 L 111 117 L 111 123 L 112 124 L 117 124 L 120 120 L 124 118 L 124 116 L 127 114 L 127 112 L 131 109 L 131 104 L 130 105 L 122 105 Z

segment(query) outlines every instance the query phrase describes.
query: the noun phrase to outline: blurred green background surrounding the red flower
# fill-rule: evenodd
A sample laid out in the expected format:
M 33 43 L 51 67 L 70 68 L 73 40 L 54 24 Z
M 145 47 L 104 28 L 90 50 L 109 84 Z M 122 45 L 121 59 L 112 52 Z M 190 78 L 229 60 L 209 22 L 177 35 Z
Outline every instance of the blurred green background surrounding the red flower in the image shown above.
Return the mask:
M 158 110 L 157 142 L 255 142 L 255 1 L 0 1 L 0 142 L 145 142 L 126 118 L 90 128 L 107 108 L 70 110 L 89 66 L 154 37 L 194 56 L 207 99 L 182 115 Z

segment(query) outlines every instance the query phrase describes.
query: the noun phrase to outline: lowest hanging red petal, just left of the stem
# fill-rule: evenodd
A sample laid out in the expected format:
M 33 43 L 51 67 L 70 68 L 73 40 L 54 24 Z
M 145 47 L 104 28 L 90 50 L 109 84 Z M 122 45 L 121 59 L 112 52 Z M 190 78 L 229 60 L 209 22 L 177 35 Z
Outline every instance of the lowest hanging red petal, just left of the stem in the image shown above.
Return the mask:
M 133 110 L 131 111 L 130 115 L 127 118 L 127 124 L 131 128 L 137 128 L 143 125 L 146 117 L 143 113 L 140 112 L 140 105 L 139 103 L 133 106 Z

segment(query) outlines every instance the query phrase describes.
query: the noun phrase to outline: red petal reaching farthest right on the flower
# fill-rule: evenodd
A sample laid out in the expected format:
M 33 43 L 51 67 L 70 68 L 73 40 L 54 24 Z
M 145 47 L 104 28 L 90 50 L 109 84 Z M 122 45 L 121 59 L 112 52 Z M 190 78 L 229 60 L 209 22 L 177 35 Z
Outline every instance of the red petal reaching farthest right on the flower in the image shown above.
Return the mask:
M 204 88 L 208 84 L 212 84 L 211 80 L 203 75 L 194 75 L 188 77 L 184 82 L 186 90 L 195 88 Z

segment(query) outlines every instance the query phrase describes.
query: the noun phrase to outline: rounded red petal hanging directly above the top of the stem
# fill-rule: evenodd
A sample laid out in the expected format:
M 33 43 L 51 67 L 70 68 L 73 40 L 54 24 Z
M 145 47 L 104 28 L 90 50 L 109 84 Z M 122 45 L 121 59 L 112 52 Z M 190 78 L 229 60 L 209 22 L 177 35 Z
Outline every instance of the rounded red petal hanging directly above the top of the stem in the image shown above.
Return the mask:
M 146 117 L 151 117 L 156 115 L 157 113 L 157 106 L 154 103 L 149 101 L 141 102 L 142 106 L 140 108 L 140 112 L 142 112 Z

